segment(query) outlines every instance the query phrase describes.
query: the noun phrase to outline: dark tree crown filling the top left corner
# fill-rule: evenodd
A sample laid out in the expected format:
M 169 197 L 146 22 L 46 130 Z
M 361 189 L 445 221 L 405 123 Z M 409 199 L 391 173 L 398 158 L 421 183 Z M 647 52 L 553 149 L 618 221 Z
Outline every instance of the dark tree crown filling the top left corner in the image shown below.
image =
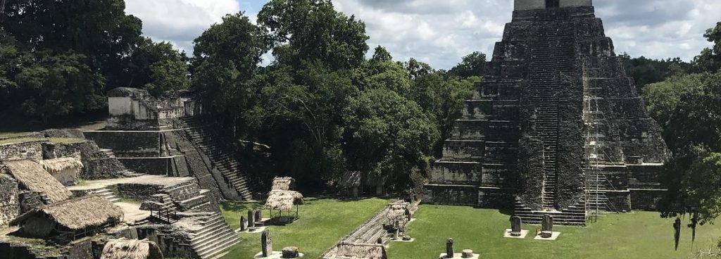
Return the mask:
M 27 49 L 86 56 L 112 86 L 123 75 L 123 57 L 141 38 L 142 22 L 125 14 L 123 0 L 8 1 L 3 26 Z

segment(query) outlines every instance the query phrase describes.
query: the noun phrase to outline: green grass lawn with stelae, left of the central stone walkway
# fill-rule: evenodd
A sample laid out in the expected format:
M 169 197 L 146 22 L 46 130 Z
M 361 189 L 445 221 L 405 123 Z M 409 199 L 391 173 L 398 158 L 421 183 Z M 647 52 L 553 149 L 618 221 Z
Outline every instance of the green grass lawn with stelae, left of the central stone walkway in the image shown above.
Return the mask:
M 270 227 L 274 250 L 295 246 L 305 253 L 304 258 L 315 259 L 334 245 L 355 227 L 378 213 L 389 200 L 369 198 L 360 201 L 338 201 L 306 198 L 300 206 L 298 221 L 287 226 Z M 227 202 L 221 209 L 230 227 L 240 226 L 240 216 L 247 216 L 250 208 L 260 208 L 260 203 Z M 267 211 L 263 211 L 267 215 Z M 240 234 L 241 242 L 231 247 L 224 258 L 253 258 L 260 252 L 259 234 Z

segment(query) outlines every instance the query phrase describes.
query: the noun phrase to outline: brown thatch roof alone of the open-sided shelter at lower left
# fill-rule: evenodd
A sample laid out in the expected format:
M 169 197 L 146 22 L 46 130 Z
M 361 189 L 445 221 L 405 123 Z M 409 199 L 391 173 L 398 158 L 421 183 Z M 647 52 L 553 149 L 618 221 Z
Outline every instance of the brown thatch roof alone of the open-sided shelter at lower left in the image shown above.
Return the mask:
M 53 203 L 14 219 L 11 224 L 17 225 L 21 221 L 35 214 L 56 221 L 67 229 L 79 230 L 87 227 L 100 227 L 113 219 L 123 217 L 123 209 L 112 204 L 107 198 L 97 195 Z

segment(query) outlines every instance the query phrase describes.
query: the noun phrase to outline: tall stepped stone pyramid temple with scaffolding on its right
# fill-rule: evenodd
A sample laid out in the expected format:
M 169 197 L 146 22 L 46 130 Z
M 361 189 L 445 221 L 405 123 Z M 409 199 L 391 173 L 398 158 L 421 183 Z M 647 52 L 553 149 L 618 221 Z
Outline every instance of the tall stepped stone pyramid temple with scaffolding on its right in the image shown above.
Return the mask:
M 433 164 L 426 203 L 560 224 L 654 208 L 669 152 L 591 0 L 516 0 L 489 67 Z

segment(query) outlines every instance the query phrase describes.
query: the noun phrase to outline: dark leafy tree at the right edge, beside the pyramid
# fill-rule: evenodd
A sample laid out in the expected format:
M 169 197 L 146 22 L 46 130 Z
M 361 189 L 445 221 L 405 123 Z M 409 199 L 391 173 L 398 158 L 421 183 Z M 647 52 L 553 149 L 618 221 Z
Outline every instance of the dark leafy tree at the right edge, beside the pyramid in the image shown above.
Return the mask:
M 671 93 L 660 94 L 673 87 Z M 673 152 L 665 166 L 663 183 L 668 195 L 661 201 L 662 216 L 691 214 L 700 224 L 721 216 L 721 74 L 687 75 L 651 84 L 658 94 L 648 99 L 663 115 L 663 135 Z M 650 95 L 645 92 L 645 96 Z M 660 111 L 660 112 L 658 112 Z

